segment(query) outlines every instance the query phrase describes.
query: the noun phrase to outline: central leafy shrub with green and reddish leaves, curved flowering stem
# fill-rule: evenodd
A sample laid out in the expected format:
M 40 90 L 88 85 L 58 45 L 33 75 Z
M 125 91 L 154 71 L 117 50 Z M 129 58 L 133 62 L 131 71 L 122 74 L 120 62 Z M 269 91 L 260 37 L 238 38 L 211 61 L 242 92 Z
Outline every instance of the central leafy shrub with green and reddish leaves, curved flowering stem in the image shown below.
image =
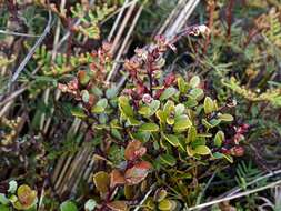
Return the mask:
M 240 141 L 247 125 L 230 124 L 234 103 L 221 104 L 205 96 L 198 76 L 188 80 L 162 71 L 163 54 L 169 48 L 175 51 L 174 42 L 182 36 L 205 33 L 204 26 L 190 27 L 171 40 L 158 36 L 152 46 L 137 49 L 124 61 L 128 81 L 120 91 L 104 82 L 108 43 L 93 53 L 98 59 L 90 70 L 79 71 L 67 84 L 59 83 L 60 90 L 79 102 L 72 113 L 87 123 L 97 148 L 100 164 L 93 183 L 99 210 L 137 205 L 151 187 L 159 189 L 145 201 L 148 208 L 173 210 L 190 198 L 187 190 L 199 173 L 218 167 L 219 160 L 232 162 L 233 155 L 243 154 Z M 116 153 L 121 153 L 118 160 L 112 157 Z M 163 183 L 163 178 L 177 188 Z M 179 201 L 169 199 L 172 192 Z

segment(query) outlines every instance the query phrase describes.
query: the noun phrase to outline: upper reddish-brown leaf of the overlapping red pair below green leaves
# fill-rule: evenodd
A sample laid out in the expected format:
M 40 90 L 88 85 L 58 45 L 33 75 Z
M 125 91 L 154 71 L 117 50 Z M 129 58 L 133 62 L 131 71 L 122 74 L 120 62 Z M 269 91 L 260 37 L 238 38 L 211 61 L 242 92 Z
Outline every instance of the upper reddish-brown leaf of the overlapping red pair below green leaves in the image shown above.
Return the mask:
M 126 160 L 136 160 L 143 154 L 145 154 L 147 148 L 142 147 L 142 143 L 140 141 L 131 141 L 126 150 L 124 150 L 124 158 Z

